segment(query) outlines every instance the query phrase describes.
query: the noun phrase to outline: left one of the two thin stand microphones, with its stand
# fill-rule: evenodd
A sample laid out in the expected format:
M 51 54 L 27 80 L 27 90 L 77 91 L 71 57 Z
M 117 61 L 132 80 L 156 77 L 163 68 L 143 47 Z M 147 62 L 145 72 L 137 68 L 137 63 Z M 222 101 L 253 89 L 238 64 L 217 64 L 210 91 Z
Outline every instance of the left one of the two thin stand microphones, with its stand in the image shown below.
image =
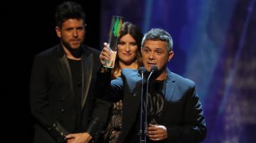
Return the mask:
M 139 68 L 139 74 L 142 75 L 142 97 L 141 97 L 141 110 L 140 110 L 140 124 L 139 124 L 139 142 L 140 143 L 145 143 L 146 142 L 146 134 L 144 129 L 144 134 L 142 132 L 142 124 L 143 124 L 143 103 L 144 103 L 144 90 L 143 90 L 143 85 L 144 85 L 144 73 L 146 73 L 146 68 L 145 67 L 140 67 Z M 144 126 L 145 127 L 145 126 Z

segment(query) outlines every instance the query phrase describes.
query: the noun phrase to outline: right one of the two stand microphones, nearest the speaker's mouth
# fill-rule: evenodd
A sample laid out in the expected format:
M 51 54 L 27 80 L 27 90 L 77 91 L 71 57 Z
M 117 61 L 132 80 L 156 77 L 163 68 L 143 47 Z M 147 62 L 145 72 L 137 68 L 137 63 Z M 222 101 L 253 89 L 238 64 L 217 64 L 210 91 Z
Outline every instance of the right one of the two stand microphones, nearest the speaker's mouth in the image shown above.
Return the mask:
M 144 134 L 145 134 L 145 141 L 146 141 L 146 135 L 147 135 L 147 128 L 148 128 L 148 123 L 147 123 L 147 110 L 148 110 L 148 104 L 149 104 L 149 79 L 152 74 L 155 74 L 157 71 L 159 71 L 158 67 L 153 66 L 150 69 L 150 74 L 148 79 L 146 80 L 146 107 L 145 107 L 145 122 L 144 122 Z

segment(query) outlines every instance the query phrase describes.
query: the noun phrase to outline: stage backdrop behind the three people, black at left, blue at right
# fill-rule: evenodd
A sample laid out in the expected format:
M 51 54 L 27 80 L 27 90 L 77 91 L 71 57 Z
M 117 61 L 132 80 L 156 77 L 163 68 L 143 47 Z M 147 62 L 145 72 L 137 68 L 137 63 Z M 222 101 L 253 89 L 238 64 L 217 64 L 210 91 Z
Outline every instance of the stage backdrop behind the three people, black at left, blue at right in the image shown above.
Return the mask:
M 54 9 L 60 2 L 9 1 L 2 5 L 1 119 L 4 137 L 11 141 L 32 140 L 31 64 L 34 55 L 58 43 Z M 107 41 L 113 15 L 139 25 L 143 32 L 151 28 L 169 31 L 175 53 L 169 68 L 197 84 L 208 127 L 204 142 L 255 142 L 255 0 L 78 2 L 87 13 L 85 42 L 98 50 Z

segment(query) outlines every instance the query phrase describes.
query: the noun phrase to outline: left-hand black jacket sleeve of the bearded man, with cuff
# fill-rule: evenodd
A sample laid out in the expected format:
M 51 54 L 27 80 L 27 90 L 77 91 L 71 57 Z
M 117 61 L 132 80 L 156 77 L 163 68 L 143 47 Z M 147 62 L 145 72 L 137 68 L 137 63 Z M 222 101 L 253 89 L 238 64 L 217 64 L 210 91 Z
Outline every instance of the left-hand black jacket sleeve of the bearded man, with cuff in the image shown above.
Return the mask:
M 48 101 L 48 71 L 45 59 L 36 56 L 33 62 L 30 82 L 31 113 L 57 142 L 65 142 L 68 131 L 57 120 L 51 118 Z

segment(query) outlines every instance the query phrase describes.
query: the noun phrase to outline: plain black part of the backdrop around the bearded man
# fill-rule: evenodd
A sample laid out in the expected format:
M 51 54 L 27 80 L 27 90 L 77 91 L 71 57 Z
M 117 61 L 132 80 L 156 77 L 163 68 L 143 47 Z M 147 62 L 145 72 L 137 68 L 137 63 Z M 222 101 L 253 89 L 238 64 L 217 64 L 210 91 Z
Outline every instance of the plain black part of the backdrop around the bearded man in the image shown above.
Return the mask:
M 63 1 L 6 1 L 1 5 L 1 120 L 9 142 L 32 142 L 29 79 L 33 57 L 58 44 L 55 6 Z M 100 0 L 78 1 L 87 16 L 85 42 L 100 50 Z M 4 31 L 4 33 L 3 33 Z M 3 94 L 2 94 L 3 93 Z

